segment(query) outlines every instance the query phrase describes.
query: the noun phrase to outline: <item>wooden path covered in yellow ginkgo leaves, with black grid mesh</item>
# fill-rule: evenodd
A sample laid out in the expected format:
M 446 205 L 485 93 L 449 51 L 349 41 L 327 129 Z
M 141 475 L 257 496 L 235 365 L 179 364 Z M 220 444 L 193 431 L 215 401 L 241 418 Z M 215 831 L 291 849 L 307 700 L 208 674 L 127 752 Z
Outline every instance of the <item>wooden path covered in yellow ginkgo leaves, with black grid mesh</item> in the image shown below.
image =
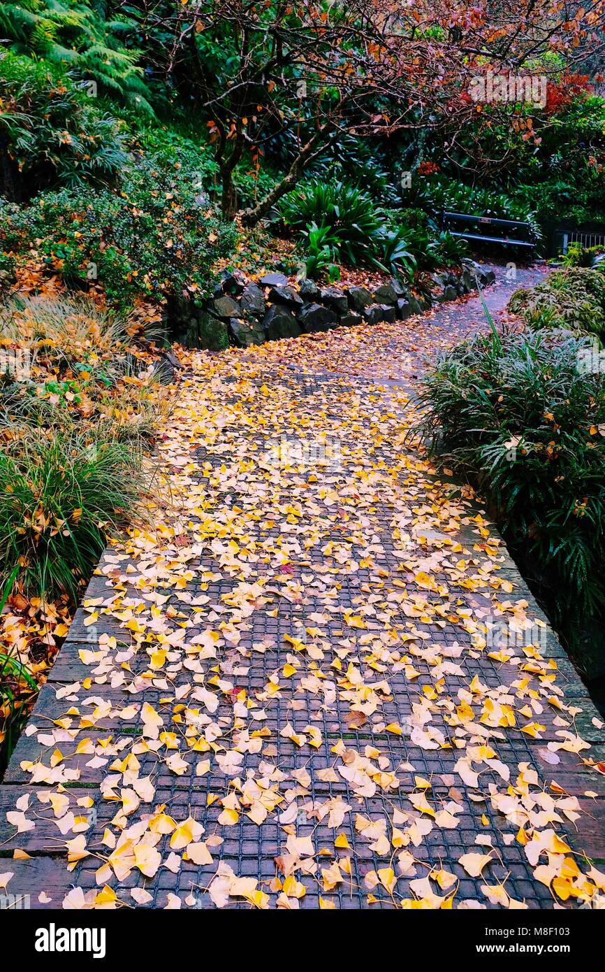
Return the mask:
M 0 787 L 8 892 L 598 899 L 602 722 L 481 507 L 404 440 L 423 355 L 480 321 L 183 355 L 170 503 L 102 558 Z

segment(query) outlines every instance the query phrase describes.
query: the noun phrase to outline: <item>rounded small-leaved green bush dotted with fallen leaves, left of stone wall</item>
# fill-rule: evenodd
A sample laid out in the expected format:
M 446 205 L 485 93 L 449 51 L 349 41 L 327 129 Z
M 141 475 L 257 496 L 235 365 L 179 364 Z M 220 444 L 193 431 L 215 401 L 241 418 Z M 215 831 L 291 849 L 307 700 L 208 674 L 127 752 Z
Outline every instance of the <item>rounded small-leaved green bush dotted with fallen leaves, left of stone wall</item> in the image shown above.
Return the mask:
M 235 246 L 190 175 L 144 157 L 126 170 L 119 194 L 109 190 L 47 192 L 28 206 L 0 205 L 0 248 L 17 259 L 42 259 L 74 287 L 98 282 L 112 303 L 137 296 L 200 295 L 211 267 Z M 13 256 L 11 256 L 11 254 Z

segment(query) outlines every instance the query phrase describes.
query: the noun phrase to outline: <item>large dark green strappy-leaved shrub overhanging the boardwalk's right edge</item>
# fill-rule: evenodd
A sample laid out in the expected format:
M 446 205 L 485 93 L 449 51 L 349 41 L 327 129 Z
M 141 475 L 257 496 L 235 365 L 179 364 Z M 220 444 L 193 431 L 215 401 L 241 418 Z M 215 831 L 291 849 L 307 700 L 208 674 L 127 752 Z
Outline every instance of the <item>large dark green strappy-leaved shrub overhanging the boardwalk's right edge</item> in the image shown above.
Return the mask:
M 440 354 L 421 397 L 431 453 L 487 494 L 563 617 L 605 607 L 605 374 L 579 369 L 588 343 L 479 334 Z

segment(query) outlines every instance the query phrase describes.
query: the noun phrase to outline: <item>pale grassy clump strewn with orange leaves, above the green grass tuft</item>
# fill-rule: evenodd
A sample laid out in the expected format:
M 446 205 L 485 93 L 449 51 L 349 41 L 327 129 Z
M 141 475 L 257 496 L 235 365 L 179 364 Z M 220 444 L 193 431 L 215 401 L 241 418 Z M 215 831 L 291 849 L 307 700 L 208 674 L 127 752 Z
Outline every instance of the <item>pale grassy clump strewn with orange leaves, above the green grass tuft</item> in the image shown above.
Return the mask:
M 137 357 L 161 334 L 133 313 L 118 317 L 87 298 L 17 296 L 0 307 L 0 348 L 26 347 L 29 374 L 0 374 L 0 442 L 27 427 L 98 435 L 144 447 L 162 411 L 156 373 Z M 147 345 L 146 343 L 146 346 Z

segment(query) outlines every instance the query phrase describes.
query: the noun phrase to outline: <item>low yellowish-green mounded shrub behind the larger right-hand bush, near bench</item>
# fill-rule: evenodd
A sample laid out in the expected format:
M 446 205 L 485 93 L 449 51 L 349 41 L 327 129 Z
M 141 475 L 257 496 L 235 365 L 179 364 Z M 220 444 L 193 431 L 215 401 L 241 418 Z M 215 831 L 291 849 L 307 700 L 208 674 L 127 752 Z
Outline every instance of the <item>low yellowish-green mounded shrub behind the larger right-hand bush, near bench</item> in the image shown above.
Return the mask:
M 537 287 L 516 291 L 508 306 L 533 327 L 557 324 L 602 334 L 605 332 L 605 265 L 555 270 Z

